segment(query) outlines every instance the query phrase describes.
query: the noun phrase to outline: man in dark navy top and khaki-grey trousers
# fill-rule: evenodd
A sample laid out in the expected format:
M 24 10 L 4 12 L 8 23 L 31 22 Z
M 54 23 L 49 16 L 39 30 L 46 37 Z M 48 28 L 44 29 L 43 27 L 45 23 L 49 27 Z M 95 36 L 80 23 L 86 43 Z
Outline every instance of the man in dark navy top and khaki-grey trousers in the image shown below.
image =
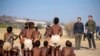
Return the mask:
M 75 48 L 80 49 L 82 34 L 84 32 L 84 25 L 81 22 L 81 17 L 77 18 L 77 22 L 74 24 L 73 32 L 75 34 Z

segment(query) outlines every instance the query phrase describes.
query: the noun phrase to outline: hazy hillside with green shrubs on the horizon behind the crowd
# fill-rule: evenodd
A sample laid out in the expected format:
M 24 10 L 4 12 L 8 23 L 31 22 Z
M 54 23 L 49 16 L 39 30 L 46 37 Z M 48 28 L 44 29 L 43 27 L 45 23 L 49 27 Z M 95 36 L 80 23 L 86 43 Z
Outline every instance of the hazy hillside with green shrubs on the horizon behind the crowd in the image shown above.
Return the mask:
M 14 28 L 20 28 L 20 29 L 24 28 L 25 23 L 18 22 L 15 19 L 22 19 L 22 20 L 29 21 L 29 18 L 18 18 L 18 17 L 3 15 L 3 16 L 0 16 L 0 28 L 6 28 L 7 26 L 12 26 Z M 39 22 L 41 22 L 41 21 L 39 21 Z M 39 29 L 44 28 L 44 26 L 41 23 L 37 24 L 37 26 L 39 27 Z

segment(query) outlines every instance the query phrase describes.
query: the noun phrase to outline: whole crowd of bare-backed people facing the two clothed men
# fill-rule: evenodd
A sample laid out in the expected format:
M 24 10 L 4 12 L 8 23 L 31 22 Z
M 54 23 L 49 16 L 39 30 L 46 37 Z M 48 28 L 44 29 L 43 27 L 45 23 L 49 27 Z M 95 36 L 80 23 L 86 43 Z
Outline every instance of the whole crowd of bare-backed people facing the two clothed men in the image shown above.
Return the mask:
M 19 35 L 15 35 L 13 28 L 7 27 L 7 33 L 4 34 L 4 44 L 0 40 L 0 56 L 75 56 L 72 43 L 67 40 L 62 50 L 60 38 L 63 35 L 62 27 L 59 25 L 59 18 L 55 17 L 52 26 L 47 26 L 44 36 L 46 39 L 43 47 L 40 47 L 41 34 L 38 26 L 34 27 L 33 22 L 25 23 L 25 28 Z M 20 39 L 21 51 L 17 46 L 13 46 L 14 40 Z M 2 42 L 2 43 L 1 43 Z

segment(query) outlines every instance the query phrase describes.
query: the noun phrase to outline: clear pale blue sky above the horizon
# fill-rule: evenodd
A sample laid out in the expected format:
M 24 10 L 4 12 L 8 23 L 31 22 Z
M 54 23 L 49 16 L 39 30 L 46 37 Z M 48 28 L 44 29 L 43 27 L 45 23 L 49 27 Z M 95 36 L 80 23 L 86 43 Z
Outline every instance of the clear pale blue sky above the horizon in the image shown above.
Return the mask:
M 75 21 L 77 17 L 85 23 L 88 15 L 93 15 L 100 25 L 100 0 L 0 0 L 0 15 L 44 21 L 58 17 L 61 23 Z

